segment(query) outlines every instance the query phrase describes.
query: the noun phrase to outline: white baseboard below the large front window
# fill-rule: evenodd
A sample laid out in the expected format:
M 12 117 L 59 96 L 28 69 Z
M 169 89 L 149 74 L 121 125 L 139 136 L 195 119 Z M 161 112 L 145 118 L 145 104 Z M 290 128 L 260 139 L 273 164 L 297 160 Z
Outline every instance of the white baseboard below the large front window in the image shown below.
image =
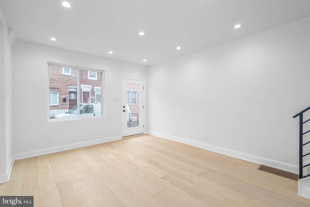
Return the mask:
M 60 152 L 60 151 L 65 151 L 69 149 L 75 149 L 78 147 L 90 146 L 94 144 L 107 143 L 107 142 L 112 142 L 112 141 L 121 140 L 121 139 L 122 139 L 122 136 L 115 136 L 115 137 L 108 137 L 108 138 L 103 138 L 103 139 L 98 139 L 98 140 L 87 141 L 87 142 L 73 143 L 73 144 L 50 147 L 50 148 L 45 148 L 45 149 L 33 150 L 29 152 L 17 153 L 17 154 L 14 154 L 14 160 L 30 158 L 30 157 L 39 156 L 39 155 L 46 155 L 46 154 L 50 154 L 54 152 Z

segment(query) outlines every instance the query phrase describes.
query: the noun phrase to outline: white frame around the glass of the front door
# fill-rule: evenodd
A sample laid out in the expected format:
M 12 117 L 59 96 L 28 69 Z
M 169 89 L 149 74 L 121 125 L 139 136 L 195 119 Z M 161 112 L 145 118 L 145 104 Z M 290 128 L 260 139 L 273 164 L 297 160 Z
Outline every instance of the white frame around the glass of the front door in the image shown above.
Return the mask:
M 142 81 L 143 82 L 143 89 L 142 91 L 140 91 L 140 93 L 143 93 L 143 106 L 140 106 L 140 107 L 143 107 L 141 108 L 143 110 L 143 123 L 140 123 L 141 125 L 143 125 L 143 133 L 142 134 L 145 134 L 145 80 L 142 80 L 142 79 L 133 79 L 133 78 L 128 78 L 128 77 L 121 77 L 121 100 L 120 100 L 120 109 L 123 110 L 123 80 L 126 79 L 126 80 L 138 80 L 138 81 Z M 127 94 L 127 92 L 126 92 Z M 127 101 L 126 101 L 127 103 Z M 124 138 L 127 138 L 127 137 L 131 137 L 131 136 L 135 136 L 135 135 L 129 135 L 129 136 L 125 136 L 124 137 L 124 123 L 123 123 L 123 111 L 121 111 L 121 136 L 122 136 L 122 139 Z

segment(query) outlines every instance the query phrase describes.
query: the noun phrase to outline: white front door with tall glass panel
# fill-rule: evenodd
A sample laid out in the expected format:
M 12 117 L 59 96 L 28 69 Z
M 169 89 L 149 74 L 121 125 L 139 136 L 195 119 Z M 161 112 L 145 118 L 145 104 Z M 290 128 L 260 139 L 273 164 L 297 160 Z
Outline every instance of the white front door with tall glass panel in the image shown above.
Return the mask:
M 122 79 L 123 137 L 144 133 L 144 81 Z

